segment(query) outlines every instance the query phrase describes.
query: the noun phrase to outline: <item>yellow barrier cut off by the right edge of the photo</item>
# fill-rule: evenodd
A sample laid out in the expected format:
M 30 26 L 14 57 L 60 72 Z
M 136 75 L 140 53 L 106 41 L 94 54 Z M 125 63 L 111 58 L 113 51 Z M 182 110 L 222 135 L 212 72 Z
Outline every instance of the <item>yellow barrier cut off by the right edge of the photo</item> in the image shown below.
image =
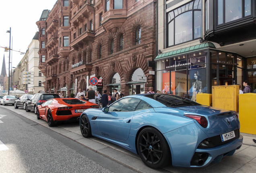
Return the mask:
M 239 95 L 240 132 L 256 135 L 256 94 Z

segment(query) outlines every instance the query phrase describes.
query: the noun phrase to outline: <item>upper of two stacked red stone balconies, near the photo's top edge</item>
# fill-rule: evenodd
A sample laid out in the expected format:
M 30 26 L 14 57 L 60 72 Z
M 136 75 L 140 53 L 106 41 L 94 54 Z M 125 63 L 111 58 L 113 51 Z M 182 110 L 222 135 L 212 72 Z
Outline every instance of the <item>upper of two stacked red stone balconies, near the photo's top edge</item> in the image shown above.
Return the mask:
M 91 3 L 86 2 L 86 4 L 71 18 L 70 23 L 73 26 L 77 26 L 79 23 L 83 23 L 83 20 L 88 18 L 90 14 L 94 14 L 94 12 L 95 9 L 91 6 Z

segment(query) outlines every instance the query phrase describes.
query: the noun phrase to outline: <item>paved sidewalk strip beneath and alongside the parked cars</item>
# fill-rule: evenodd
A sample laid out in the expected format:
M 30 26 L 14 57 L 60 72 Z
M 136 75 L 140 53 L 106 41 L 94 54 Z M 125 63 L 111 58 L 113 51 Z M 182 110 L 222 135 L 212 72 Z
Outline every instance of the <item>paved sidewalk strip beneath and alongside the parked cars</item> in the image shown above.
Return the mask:
M 22 108 L 14 109 L 13 106 L 9 105 L 0 105 L 0 107 L 9 109 L 37 124 L 52 129 L 56 133 L 76 141 L 92 151 L 104 155 L 105 157 L 108 157 L 109 159 L 112 159 L 139 173 L 255 173 L 256 171 L 256 144 L 252 141 L 252 139 L 256 139 L 256 135 L 241 133 L 241 135 L 244 136 L 242 147 L 235 151 L 233 156 L 224 157 L 220 163 L 212 163 L 204 168 L 179 168 L 167 166 L 163 169 L 154 170 L 147 167 L 140 160 L 138 155 L 135 155 L 118 145 L 103 141 L 96 137 L 84 138 L 81 135 L 78 123 L 64 123 L 56 127 L 49 127 L 46 121 L 41 119 L 38 120 L 35 113 L 32 111 L 26 112 Z

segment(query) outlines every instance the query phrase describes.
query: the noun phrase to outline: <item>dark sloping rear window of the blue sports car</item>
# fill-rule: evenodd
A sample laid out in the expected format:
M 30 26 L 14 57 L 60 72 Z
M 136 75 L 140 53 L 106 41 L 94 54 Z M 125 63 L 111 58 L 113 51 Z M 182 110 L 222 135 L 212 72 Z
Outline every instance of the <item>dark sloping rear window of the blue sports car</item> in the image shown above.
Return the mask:
M 200 105 L 199 103 L 196 103 L 190 99 L 186 99 L 184 97 L 180 97 L 176 95 L 150 94 L 150 95 L 145 95 L 145 97 L 154 99 L 167 107 L 184 107 L 184 106 Z

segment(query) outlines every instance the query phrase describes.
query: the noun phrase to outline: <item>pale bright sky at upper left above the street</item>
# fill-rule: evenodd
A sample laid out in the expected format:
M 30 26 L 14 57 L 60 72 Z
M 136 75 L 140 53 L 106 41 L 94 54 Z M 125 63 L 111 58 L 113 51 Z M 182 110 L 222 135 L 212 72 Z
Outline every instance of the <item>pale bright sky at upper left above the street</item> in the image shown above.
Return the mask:
M 36 22 L 40 19 L 43 10 L 52 10 L 57 0 L 0 0 L 0 46 L 9 47 L 11 28 L 11 48 L 26 52 L 35 33 L 38 31 Z M 17 67 L 24 54 L 12 51 L 10 61 L 12 67 Z M 0 70 L 5 56 L 6 73 L 8 75 L 9 52 L 0 48 Z

